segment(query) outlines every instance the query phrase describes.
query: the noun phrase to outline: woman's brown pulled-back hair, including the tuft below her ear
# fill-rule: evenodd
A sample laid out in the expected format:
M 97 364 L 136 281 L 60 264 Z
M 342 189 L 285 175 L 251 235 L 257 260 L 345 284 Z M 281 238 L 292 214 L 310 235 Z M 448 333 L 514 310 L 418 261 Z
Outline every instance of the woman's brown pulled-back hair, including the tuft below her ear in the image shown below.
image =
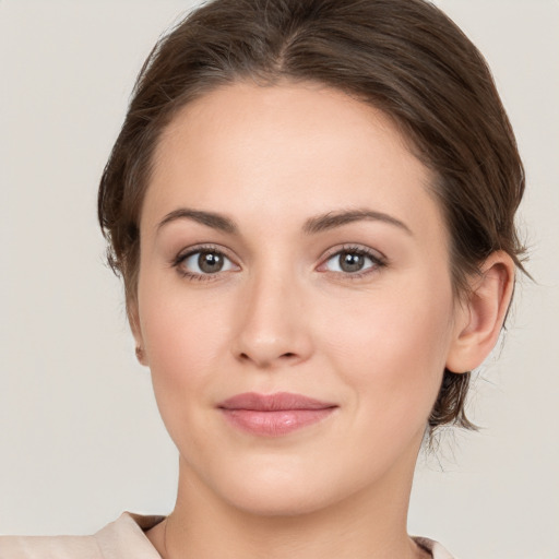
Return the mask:
M 108 261 L 135 299 L 139 217 L 157 139 L 177 110 L 241 80 L 314 81 L 390 116 L 436 177 L 457 294 L 493 251 L 523 270 L 514 213 L 524 173 L 479 51 L 424 0 L 214 0 L 152 50 L 105 167 L 98 215 Z M 429 426 L 472 428 L 469 373 L 444 371 Z

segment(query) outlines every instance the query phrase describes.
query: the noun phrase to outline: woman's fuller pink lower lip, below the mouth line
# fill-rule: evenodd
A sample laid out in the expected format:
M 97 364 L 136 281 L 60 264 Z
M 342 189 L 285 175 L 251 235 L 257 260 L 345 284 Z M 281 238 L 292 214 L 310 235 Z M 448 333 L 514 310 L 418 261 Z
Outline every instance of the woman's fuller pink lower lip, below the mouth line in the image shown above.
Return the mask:
M 334 407 L 321 409 L 278 409 L 259 412 L 255 409 L 223 409 L 222 412 L 235 427 L 264 437 L 281 437 L 329 417 Z

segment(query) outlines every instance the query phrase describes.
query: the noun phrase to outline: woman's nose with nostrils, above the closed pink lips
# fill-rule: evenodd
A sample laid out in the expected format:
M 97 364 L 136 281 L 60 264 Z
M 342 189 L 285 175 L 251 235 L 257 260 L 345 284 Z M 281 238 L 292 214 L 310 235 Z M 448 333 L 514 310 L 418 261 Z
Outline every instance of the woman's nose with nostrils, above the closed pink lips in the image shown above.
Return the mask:
M 262 369 L 306 361 L 312 354 L 304 289 L 286 276 L 254 277 L 239 300 L 235 357 Z

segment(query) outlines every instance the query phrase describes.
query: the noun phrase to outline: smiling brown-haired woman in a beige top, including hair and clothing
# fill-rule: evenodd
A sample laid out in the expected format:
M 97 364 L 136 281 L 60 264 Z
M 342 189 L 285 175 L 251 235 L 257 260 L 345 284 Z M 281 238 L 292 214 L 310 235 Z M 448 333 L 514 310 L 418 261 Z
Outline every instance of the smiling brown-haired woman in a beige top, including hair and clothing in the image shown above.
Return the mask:
M 99 189 L 176 508 L 0 550 L 450 557 L 407 536 L 413 472 L 426 432 L 472 427 L 523 189 L 484 59 L 431 4 L 199 9 L 144 66 Z

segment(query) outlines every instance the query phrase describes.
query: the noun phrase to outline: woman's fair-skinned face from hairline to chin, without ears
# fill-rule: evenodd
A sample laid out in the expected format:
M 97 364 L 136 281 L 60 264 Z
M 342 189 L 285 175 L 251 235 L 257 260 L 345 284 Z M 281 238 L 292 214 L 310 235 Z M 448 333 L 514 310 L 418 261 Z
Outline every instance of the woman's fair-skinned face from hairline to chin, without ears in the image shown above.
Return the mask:
M 133 314 L 190 483 L 266 514 L 408 490 L 461 312 L 430 180 L 382 112 L 313 84 L 175 117 Z

